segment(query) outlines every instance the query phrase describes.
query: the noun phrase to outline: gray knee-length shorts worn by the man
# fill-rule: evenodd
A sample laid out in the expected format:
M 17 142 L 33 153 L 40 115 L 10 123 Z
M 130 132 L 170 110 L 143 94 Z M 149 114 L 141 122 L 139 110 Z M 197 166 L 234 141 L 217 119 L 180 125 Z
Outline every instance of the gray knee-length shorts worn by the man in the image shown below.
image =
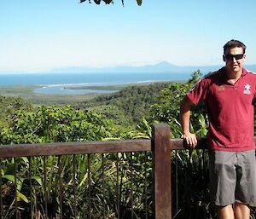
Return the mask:
M 256 205 L 255 150 L 210 151 L 210 191 L 213 205 L 235 202 Z

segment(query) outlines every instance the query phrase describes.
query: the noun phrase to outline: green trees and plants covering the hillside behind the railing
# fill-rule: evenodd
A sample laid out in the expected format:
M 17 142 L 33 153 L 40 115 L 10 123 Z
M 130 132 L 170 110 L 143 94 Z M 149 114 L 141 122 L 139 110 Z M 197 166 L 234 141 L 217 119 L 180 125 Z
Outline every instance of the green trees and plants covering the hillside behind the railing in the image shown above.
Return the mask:
M 105 141 L 108 139 L 149 138 L 152 123 L 170 124 L 172 137 L 180 137 L 178 118 L 179 103 L 183 95 L 192 88 L 201 77 L 199 71 L 194 72 L 186 83 L 155 83 L 131 86 L 110 95 L 101 95 L 90 100 L 74 101 L 70 105 L 45 104 L 35 106 L 16 97 L 1 97 L 1 131 L 0 143 L 32 143 L 56 141 Z M 22 88 L 24 89 L 24 88 Z M 25 90 L 25 89 L 24 89 Z M 25 92 L 26 93 L 26 92 Z M 35 97 L 35 96 L 34 96 Z M 65 95 L 67 98 L 67 96 Z M 83 95 L 84 97 L 84 95 Z M 49 100 L 49 99 L 48 99 Z M 192 113 L 195 133 L 207 134 L 207 118 L 202 106 Z M 173 152 L 175 153 L 175 152 Z M 211 214 L 208 192 L 207 152 L 181 151 L 172 157 L 172 182 L 178 182 L 178 193 L 173 194 L 179 204 L 173 203 L 175 218 L 214 218 Z M 103 158 L 103 159 L 102 159 Z M 77 192 L 77 208 L 79 218 L 86 217 L 89 210 L 88 193 L 91 193 L 92 218 L 102 218 L 104 203 L 107 218 L 116 218 L 115 194 L 119 185 L 121 194 L 121 218 L 144 217 L 145 176 L 148 179 L 148 218 L 152 218 L 152 155 L 151 153 L 116 153 L 62 156 L 49 158 L 13 158 L 2 161 L 3 193 L 7 212 L 13 214 L 11 203 L 14 201 L 14 170 L 19 170 L 19 205 L 26 209 L 30 205 L 28 193 L 28 164 L 32 162 L 33 207 L 44 215 L 45 197 L 48 197 L 51 216 L 60 214 L 61 184 L 64 218 L 73 218 L 73 185 Z M 145 163 L 144 161 L 147 160 Z M 104 163 L 104 164 L 103 164 Z M 45 164 L 45 165 L 44 165 Z M 90 166 L 90 170 L 89 170 Z M 105 201 L 102 201 L 102 166 L 104 167 Z M 177 172 L 174 170 L 177 167 Z M 75 173 L 73 169 L 77 170 Z M 117 169 L 119 176 L 117 177 Z M 132 180 L 131 180 L 132 170 Z M 178 173 L 178 174 L 177 174 Z M 89 177 L 91 176 L 91 178 Z M 191 187 L 193 185 L 193 187 Z M 40 187 L 45 186 L 47 193 Z M 176 185 L 172 183 L 173 191 Z M 5 191 L 4 190 L 4 191 Z M 177 197 L 175 197 L 177 195 Z M 133 208 L 131 209 L 131 199 Z M 84 201 L 87 200 L 87 201 Z M 132 210 L 132 211 L 131 211 Z M 25 217 L 24 217 L 25 218 Z M 44 218 L 44 217 L 42 217 Z

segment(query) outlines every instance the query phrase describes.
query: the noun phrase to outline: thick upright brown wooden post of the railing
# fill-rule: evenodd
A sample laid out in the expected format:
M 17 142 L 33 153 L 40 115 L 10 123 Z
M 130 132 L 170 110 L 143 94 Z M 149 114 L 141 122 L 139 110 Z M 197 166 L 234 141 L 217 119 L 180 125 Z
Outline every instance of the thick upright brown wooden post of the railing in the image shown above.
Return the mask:
M 154 218 L 172 219 L 171 131 L 168 124 L 154 124 Z

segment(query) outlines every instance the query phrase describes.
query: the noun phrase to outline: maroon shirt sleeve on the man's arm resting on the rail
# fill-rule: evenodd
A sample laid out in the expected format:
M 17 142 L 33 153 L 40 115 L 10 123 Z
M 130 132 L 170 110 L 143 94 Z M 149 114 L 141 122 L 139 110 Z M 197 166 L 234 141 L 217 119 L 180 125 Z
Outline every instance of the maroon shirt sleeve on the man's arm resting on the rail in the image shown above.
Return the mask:
M 194 88 L 189 91 L 187 96 L 194 105 L 197 105 L 200 101 L 206 100 L 207 89 L 207 80 L 206 78 L 202 78 L 197 84 L 195 84 Z

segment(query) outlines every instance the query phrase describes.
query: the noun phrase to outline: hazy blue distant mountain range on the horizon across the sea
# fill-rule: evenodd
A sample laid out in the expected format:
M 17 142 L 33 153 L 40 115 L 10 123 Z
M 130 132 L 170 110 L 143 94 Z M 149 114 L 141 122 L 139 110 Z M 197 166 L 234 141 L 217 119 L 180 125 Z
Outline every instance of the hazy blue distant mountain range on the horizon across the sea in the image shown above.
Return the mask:
M 90 67 L 67 67 L 61 69 L 54 69 L 50 72 L 55 73 L 86 73 L 86 72 L 125 72 L 125 73 L 140 73 L 140 72 L 148 72 L 148 73 L 192 73 L 197 70 L 200 70 L 203 74 L 208 72 L 213 72 L 218 70 L 221 65 L 215 66 L 176 66 L 172 65 L 169 62 L 163 61 L 154 65 L 146 65 L 146 66 L 115 66 L 115 67 L 102 67 L 102 68 L 90 68 Z M 247 65 L 248 69 L 256 72 L 256 65 Z

